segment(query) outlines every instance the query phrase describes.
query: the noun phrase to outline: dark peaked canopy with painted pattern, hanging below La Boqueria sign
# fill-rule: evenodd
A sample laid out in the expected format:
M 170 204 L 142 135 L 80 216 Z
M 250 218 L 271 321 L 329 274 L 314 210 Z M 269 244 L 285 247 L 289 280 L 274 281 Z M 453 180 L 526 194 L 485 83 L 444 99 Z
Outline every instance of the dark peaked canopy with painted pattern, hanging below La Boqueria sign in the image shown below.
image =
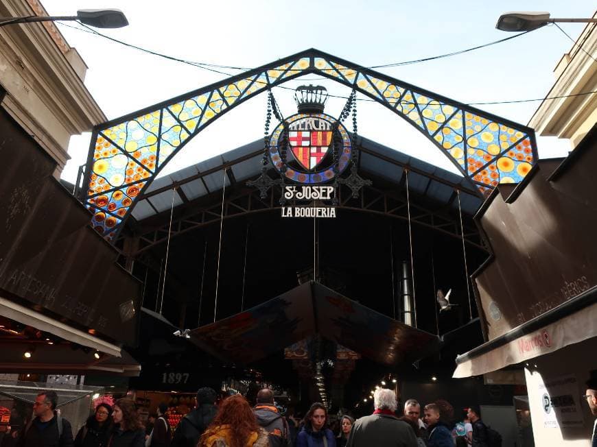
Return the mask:
M 250 363 L 317 334 L 385 365 L 416 361 L 439 347 L 436 335 L 368 309 L 316 282 L 192 330 L 190 337 L 219 359 Z

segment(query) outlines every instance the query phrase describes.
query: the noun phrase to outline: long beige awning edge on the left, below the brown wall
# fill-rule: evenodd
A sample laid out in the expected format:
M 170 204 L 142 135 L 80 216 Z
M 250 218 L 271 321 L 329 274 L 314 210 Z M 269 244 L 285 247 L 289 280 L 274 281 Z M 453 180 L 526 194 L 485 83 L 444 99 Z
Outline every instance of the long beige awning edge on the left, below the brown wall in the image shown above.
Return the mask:
M 120 357 L 119 346 L 108 343 L 98 337 L 78 330 L 67 324 L 59 322 L 57 319 L 47 317 L 39 312 L 29 309 L 21 304 L 16 304 L 10 300 L 0 297 L 0 315 L 21 324 L 32 326 L 44 332 L 51 333 L 62 339 L 87 346 L 94 350 L 104 352 L 114 357 Z

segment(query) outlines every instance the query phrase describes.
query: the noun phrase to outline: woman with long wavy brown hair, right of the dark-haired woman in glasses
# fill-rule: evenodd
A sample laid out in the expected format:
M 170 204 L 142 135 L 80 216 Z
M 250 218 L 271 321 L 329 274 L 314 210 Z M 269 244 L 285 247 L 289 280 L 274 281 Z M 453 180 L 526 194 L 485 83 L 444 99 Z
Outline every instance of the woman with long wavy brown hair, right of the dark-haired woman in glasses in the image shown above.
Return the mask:
M 109 447 L 145 447 L 145 429 L 131 398 L 121 398 L 112 411 L 114 428 L 108 439 Z

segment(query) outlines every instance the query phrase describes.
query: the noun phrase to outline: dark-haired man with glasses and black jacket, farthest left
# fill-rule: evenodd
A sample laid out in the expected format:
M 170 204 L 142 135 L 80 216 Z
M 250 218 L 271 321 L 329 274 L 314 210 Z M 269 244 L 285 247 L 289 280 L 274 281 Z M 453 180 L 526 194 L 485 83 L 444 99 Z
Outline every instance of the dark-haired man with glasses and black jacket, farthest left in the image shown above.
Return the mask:
M 33 404 L 34 419 L 25 426 L 19 447 L 73 447 L 71 423 L 56 412 L 55 391 L 42 391 Z

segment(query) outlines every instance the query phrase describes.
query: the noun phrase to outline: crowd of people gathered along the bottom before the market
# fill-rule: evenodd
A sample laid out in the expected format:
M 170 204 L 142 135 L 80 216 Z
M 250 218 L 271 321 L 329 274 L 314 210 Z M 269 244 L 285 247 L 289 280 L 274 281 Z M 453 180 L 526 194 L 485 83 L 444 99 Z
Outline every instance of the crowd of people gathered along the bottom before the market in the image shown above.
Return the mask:
M 597 383 L 587 383 L 589 408 L 597 415 Z M 34 402 L 34 418 L 28 422 L 15 447 L 494 447 L 500 435 L 481 420 L 478 407 L 465 409 L 456 424 L 454 409 L 445 400 L 421 404 L 406 400 L 399 411 L 395 392 L 378 388 L 371 415 L 354 420 L 344 414 L 337 433 L 329 426 L 327 408 L 314 402 L 305 417 L 283 415 L 274 393 L 257 393 L 255 407 L 240 394 L 218 396 L 211 388 L 197 392 L 196 407 L 174 429 L 160 404 L 148 426 L 139 420 L 134 401 L 121 398 L 113 406 L 100 403 L 73 439 L 71 424 L 56 411 L 58 396 L 42 391 Z M 397 413 L 402 413 L 398 415 Z M 338 423 L 339 422 L 339 423 Z M 596 422 L 597 426 L 597 422 Z M 595 433 L 593 446 L 597 446 Z

